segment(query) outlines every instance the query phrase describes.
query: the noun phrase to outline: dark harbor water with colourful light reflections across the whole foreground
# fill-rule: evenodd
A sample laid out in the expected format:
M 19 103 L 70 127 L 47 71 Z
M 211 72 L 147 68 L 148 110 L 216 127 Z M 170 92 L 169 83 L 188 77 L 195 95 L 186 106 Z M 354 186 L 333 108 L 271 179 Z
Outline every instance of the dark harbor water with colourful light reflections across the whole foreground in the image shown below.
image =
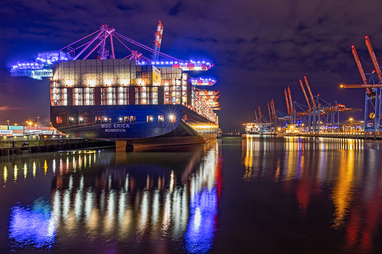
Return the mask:
M 0 157 L 1 253 L 377 253 L 382 141 L 246 135 Z

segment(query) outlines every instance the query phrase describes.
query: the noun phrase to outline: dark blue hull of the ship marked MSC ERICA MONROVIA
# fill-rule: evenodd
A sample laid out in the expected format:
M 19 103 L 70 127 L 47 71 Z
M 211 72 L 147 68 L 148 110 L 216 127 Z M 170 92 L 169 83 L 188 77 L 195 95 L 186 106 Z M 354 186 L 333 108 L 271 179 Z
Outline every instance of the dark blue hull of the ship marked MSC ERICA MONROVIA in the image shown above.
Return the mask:
M 65 134 L 126 141 L 134 148 L 199 144 L 216 138 L 219 129 L 216 123 L 183 105 L 51 106 L 50 112 L 53 126 Z M 131 116 L 136 121 L 125 122 Z M 161 116 L 163 122 L 159 122 Z M 97 117 L 102 120 L 97 122 Z M 150 118 L 152 122 L 147 121 Z

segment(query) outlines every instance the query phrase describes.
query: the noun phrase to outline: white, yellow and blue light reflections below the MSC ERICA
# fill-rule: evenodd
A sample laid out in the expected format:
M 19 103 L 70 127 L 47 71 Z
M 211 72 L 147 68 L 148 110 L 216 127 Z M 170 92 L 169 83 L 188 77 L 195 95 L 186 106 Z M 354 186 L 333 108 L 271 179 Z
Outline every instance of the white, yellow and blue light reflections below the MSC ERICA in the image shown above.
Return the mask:
M 208 252 L 217 230 L 221 187 L 217 141 L 188 153 L 171 153 L 173 165 L 163 167 L 162 156 L 80 151 L 25 162 L 24 181 L 52 174 L 51 200 L 35 201 L 44 209 L 12 208 L 9 237 L 14 246 L 52 248 L 56 241 L 85 235 L 94 243 L 151 238 L 153 249 L 155 242 L 176 240 L 186 252 Z M 33 178 L 28 177 L 28 164 L 34 165 Z M 18 164 L 14 168 L 18 182 Z

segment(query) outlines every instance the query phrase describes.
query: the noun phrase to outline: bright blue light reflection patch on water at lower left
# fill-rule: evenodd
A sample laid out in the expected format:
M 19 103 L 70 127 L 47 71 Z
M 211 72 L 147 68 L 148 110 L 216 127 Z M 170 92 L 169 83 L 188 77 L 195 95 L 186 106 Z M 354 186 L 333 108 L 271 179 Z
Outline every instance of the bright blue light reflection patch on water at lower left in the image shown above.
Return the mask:
M 56 229 L 50 215 L 49 201 L 38 198 L 32 208 L 14 206 L 10 215 L 9 238 L 23 246 L 52 248 Z

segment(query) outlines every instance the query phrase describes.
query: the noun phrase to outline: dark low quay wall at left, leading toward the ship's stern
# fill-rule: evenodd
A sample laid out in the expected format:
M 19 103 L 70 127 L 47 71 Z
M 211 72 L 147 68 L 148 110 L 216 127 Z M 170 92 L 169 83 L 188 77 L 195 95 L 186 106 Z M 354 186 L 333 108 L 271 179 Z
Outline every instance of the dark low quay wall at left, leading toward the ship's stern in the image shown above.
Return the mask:
M 114 141 L 97 139 L 45 139 L 0 141 L 0 156 L 23 153 L 56 152 L 115 145 Z

